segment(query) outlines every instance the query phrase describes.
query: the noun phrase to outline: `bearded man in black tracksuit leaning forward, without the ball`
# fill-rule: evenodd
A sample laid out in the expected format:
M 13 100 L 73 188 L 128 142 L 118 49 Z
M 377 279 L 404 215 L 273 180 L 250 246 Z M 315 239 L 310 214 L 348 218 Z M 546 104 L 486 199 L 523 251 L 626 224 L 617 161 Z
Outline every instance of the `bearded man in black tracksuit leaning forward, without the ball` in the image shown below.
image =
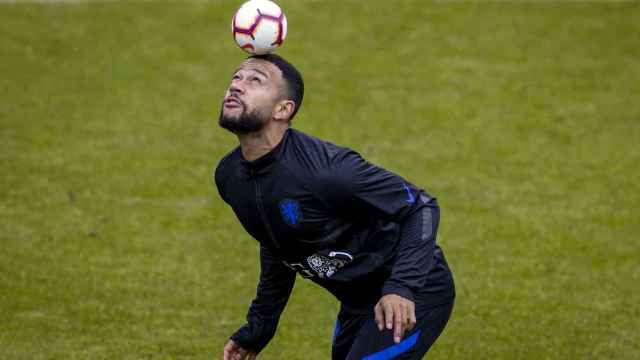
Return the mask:
M 219 124 L 240 146 L 215 172 L 222 199 L 260 244 L 257 294 L 224 360 L 255 359 L 296 273 L 341 302 L 333 359 L 421 359 L 454 301 L 436 245 L 435 198 L 348 148 L 291 129 L 304 85 L 275 55 L 234 73 Z

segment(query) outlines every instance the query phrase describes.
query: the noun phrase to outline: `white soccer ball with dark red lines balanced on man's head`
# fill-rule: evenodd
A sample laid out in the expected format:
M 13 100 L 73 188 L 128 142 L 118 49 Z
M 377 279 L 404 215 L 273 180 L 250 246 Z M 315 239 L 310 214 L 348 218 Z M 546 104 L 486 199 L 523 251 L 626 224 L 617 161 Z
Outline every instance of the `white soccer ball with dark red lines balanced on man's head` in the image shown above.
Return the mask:
M 282 45 L 287 36 L 287 18 L 272 1 L 250 0 L 233 15 L 231 32 L 240 49 L 262 55 Z

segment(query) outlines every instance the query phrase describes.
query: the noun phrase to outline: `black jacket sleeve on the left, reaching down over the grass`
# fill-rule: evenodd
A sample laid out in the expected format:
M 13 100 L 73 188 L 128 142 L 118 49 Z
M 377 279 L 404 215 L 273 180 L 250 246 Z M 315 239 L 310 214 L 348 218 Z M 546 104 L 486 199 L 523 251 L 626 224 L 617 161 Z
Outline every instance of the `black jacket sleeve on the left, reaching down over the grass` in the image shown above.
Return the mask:
M 249 306 L 247 323 L 231 339 L 247 350 L 259 353 L 276 333 L 280 314 L 287 305 L 296 273 L 260 246 L 260 281 Z

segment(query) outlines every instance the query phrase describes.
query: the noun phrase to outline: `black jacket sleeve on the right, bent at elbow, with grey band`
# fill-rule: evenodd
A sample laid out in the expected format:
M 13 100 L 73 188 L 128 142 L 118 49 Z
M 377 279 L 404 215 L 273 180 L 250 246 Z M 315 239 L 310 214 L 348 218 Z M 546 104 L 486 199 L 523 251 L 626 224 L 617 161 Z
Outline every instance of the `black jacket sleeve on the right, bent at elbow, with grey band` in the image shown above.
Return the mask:
M 424 285 L 433 266 L 439 219 L 435 198 L 354 151 L 334 159 L 327 181 L 327 201 L 342 214 L 400 224 L 395 262 L 382 292 L 413 300 L 413 291 Z

